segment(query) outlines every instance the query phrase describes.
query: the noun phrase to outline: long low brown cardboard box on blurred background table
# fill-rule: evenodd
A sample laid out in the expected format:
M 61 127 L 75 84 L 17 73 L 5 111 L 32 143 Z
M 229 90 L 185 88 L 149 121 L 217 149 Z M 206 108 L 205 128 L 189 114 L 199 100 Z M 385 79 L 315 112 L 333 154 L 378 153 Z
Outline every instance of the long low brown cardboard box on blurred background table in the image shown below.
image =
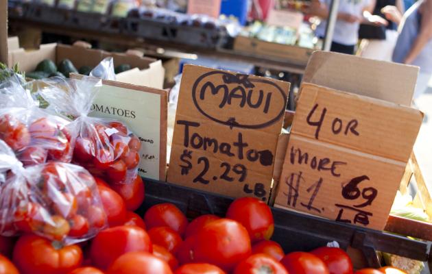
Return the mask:
M 235 51 L 265 55 L 274 58 L 284 58 L 294 64 L 307 64 L 314 49 L 265 42 L 256 38 L 237 36 L 234 42 Z

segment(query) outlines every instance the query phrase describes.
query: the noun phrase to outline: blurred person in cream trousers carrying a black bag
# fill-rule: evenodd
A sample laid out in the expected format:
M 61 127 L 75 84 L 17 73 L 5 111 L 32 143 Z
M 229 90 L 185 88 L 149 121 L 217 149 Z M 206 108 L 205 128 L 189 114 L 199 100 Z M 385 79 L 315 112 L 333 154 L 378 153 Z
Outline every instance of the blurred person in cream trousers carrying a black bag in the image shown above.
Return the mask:
M 405 12 L 403 0 L 376 0 L 373 14 L 387 19 L 387 25 L 360 26 L 361 57 L 380 61 L 392 61 L 392 53 L 398 39 L 400 14 Z

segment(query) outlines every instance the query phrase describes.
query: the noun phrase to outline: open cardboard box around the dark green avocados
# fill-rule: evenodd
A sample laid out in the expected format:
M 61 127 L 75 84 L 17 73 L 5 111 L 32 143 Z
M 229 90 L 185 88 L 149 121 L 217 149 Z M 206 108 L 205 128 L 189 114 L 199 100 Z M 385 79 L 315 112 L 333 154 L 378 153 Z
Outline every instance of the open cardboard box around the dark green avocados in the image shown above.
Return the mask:
M 8 63 L 9 66 L 18 63 L 22 71 L 28 72 L 34 71 L 38 62 L 44 59 L 53 60 L 56 64 L 61 60 L 69 59 L 79 69 L 81 66 L 96 66 L 101 60 L 110 56 L 114 59 L 115 66 L 130 64 L 132 68 L 136 68 L 119 73 L 117 81 L 150 88 L 163 88 L 165 69 L 160 60 L 126 53 L 111 53 L 99 49 L 51 43 L 40 45 L 36 50 L 26 51 L 20 48 L 9 51 Z

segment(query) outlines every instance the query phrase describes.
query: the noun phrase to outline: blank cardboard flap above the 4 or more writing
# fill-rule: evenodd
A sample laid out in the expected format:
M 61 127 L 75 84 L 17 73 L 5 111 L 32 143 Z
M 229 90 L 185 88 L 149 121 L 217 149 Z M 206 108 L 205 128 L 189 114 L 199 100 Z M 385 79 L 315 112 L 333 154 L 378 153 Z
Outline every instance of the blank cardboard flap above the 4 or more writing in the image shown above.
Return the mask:
M 315 51 L 303 82 L 411 105 L 418 71 L 416 66 Z

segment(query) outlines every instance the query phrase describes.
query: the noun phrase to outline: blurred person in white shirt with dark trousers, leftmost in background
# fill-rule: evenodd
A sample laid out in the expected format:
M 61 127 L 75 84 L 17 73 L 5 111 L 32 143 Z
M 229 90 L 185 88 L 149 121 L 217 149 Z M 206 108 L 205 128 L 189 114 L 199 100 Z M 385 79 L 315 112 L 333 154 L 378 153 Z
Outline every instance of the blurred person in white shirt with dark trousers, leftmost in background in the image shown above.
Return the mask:
M 309 14 L 323 19 L 317 27 L 316 34 L 324 38 L 331 0 L 312 0 Z M 354 54 L 359 41 L 360 23 L 387 25 L 380 16 L 370 14 L 374 10 L 374 0 L 340 0 L 337 21 L 333 33 L 331 51 Z

